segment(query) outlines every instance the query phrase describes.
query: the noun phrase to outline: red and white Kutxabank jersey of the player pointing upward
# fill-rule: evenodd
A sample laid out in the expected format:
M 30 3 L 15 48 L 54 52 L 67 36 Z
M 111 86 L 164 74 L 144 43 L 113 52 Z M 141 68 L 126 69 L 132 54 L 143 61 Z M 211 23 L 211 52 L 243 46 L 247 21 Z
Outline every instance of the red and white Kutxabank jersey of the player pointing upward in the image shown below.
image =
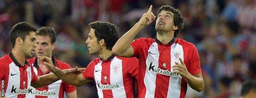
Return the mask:
M 131 43 L 139 58 L 139 98 L 185 98 L 187 82 L 171 68 L 181 58 L 192 74 L 201 72 L 196 47 L 180 38 L 162 44 L 157 38 L 139 38 Z

